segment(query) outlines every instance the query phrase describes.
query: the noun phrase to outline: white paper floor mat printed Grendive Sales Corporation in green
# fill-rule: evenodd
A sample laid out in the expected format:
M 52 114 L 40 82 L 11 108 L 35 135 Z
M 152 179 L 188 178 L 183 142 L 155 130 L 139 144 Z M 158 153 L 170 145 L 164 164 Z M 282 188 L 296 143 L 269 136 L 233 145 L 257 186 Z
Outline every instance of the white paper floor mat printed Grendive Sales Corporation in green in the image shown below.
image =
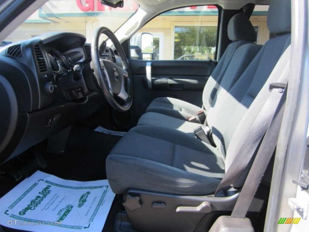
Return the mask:
M 115 194 L 107 180 L 37 171 L 0 199 L 0 224 L 28 231 L 102 231 Z

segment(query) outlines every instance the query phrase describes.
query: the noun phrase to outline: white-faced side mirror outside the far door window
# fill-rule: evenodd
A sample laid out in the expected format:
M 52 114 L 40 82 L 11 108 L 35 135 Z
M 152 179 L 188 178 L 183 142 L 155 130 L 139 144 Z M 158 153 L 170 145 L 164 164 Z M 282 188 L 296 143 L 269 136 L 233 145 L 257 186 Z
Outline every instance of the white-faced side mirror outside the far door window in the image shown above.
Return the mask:
M 154 53 L 154 39 L 150 33 L 140 33 L 136 36 L 135 43 L 130 46 L 134 49 L 138 59 L 152 60 Z

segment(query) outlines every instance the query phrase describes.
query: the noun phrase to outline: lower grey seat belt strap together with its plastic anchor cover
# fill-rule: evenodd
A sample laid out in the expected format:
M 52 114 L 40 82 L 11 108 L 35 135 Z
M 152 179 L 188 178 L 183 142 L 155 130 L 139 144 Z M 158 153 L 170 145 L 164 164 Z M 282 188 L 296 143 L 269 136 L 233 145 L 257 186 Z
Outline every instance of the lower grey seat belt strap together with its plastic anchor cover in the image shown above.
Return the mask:
M 231 217 L 219 217 L 210 228 L 210 232 L 218 232 L 223 230 L 254 232 L 251 221 L 246 218 L 246 214 L 276 148 L 283 118 L 285 97 L 286 91 L 284 96 L 281 97 L 276 113 L 265 133 L 259 151 L 256 154 L 256 158 L 236 201 Z

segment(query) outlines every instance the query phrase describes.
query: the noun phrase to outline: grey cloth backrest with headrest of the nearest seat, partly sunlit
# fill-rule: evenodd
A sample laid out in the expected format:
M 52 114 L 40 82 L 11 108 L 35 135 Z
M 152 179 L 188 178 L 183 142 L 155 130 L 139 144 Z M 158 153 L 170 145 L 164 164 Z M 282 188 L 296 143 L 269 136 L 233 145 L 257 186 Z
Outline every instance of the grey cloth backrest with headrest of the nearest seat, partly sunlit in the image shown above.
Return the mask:
M 244 115 L 265 84 L 277 61 L 291 41 L 291 2 L 272 0 L 267 23 L 270 32 L 276 36 L 269 39 L 256 55 L 243 75 L 224 96 L 219 104 L 212 104 L 207 114 L 207 122 L 213 132 L 218 149 L 226 155 L 226 170 L 235 157 L 229 157 L 228 148 L 232 137 L 237 138 Z M 288 20 L 280 20 L 284 15 Z

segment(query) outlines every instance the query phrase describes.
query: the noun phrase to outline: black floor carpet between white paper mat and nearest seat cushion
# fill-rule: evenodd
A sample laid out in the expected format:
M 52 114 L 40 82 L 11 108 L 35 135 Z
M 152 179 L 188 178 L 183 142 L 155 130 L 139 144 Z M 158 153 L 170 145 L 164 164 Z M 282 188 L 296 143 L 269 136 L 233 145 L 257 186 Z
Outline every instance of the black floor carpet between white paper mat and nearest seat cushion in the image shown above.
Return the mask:
M 47 167 L 43 171 L 70 180 L 106 179 L 105 159 L 120 138 L 74 126 L 64 153 L 44 155 Z

